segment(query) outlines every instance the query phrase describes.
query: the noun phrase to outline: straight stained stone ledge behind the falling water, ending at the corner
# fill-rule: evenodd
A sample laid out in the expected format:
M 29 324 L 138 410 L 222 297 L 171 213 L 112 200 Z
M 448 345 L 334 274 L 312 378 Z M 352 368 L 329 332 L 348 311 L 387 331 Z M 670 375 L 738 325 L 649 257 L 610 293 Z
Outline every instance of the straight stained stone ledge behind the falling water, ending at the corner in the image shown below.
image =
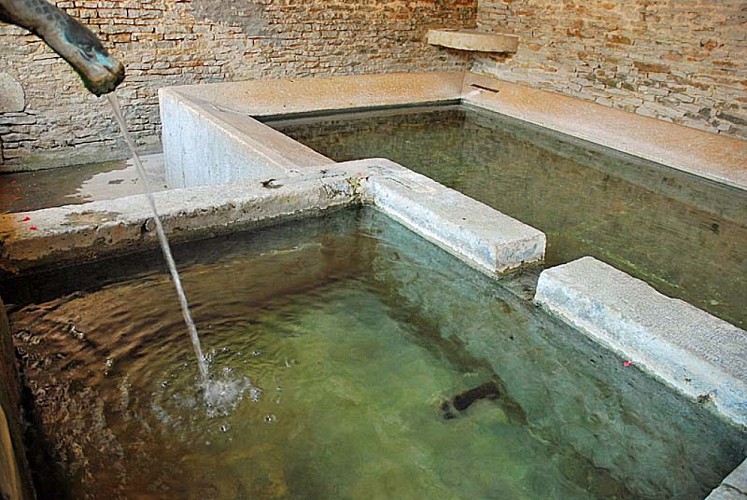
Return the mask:
M 266 187 L 246 181 L 162 191 L 154 199 L 169 239 L 181 241 L 349 205 L 356 196 L 344 173 Z M 0 270 L 19 273 L 155 247 L 152 217 L 144 195 L 2 215 Z

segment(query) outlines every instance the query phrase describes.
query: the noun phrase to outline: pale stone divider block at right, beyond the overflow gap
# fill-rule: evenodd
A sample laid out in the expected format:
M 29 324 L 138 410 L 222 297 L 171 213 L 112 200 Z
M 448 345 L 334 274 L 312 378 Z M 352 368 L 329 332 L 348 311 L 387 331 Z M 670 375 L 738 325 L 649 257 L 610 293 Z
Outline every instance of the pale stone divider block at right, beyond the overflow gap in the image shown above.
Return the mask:
M 535 301 L 747 427 L 747 332 L 591 257 L 547 269 Z

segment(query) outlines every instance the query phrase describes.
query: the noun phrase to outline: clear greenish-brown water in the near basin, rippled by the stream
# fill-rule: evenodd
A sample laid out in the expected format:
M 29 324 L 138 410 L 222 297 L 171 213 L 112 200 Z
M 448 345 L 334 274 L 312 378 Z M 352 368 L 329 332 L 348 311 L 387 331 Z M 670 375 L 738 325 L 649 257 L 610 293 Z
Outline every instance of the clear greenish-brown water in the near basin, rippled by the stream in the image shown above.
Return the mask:
M 747 436 L 372 210 L 0 283 L 42 498 L 702 498 Z M 457 418 L 442 404 L 493 381 Z M 216 411 L 217 410 L 217 411 Z

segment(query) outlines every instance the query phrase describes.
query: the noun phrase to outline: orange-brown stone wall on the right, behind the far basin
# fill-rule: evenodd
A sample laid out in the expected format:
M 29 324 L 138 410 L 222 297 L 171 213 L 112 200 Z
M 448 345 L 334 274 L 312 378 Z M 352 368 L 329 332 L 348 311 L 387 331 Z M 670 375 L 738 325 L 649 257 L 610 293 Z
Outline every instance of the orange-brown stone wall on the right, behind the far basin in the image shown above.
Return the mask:
M 477 24 L 520 42 L 476 72 L 747 139 L 745 0 L 479 0 Z

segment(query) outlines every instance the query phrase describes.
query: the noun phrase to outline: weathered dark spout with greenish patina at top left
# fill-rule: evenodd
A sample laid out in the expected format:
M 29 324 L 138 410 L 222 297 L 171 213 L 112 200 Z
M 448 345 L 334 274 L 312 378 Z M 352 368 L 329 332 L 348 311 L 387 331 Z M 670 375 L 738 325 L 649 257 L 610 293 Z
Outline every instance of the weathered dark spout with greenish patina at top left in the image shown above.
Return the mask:
M 124 66 L 109 55 L 96 35 L 45 0 L 0 0 L 0 21 L 44 40 L 96 95 L 111 92 L 124 80 Z

